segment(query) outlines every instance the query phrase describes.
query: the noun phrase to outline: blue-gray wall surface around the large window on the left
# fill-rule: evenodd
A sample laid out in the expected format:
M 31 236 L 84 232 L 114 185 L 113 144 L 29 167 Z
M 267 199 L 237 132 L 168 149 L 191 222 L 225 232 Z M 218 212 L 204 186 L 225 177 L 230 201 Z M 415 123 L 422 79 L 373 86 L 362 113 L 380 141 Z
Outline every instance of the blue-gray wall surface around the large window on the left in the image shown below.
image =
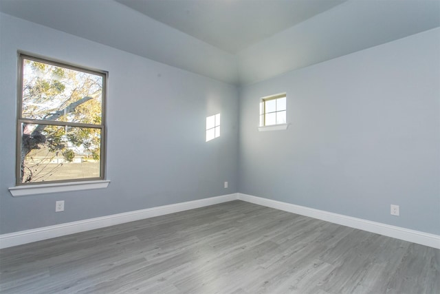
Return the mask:
M 77 36 L 0 14 L 0 233 L 235 193 L 238 90 Z M 13 198 L 17 50 L 109 72 L 107 189 Z M 206 116 L 221 136 L 205 142 Z M 224 181 L 229 188 L 223 188 Z M 56 200 L 65 211 L 55 213 Z

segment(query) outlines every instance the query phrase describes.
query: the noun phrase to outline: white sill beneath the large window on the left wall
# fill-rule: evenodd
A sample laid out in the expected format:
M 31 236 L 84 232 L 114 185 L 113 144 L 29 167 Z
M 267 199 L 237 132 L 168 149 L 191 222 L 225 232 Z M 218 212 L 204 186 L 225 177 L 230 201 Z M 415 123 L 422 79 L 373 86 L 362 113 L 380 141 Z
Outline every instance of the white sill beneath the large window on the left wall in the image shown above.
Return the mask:
M 13 197 L 29 196 L 43 193 L 102 189 L 109 186 L 109 180 L 91 180 L 89 182 L 61 182 L 55 184 L 27 185 L 9 188 Z

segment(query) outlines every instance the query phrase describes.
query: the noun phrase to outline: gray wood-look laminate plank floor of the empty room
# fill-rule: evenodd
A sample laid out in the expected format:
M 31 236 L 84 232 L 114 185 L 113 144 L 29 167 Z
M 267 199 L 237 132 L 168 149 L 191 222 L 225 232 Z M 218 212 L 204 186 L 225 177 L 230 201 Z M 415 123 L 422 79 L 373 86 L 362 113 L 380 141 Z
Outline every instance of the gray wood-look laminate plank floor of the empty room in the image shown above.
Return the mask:
M 232 201 L 0 251 L 0 293 L 440 293 L 440 250 Z

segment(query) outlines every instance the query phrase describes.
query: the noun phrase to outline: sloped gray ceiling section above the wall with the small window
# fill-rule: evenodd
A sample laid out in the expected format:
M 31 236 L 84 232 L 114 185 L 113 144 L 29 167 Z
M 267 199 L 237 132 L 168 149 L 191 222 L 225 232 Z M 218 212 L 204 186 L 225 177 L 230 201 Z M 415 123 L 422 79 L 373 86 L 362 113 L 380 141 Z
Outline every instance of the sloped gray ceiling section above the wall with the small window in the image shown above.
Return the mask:
M 439 1 L 347 1 L 237 54 L 241 84 L 440 26 Z

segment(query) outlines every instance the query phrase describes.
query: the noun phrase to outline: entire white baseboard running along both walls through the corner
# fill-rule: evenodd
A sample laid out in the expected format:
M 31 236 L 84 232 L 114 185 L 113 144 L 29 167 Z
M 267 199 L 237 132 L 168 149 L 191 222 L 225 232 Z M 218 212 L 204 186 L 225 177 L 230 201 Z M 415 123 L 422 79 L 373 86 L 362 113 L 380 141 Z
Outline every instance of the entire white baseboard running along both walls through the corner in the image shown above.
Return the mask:
M 50 238 L 61 237 L 63 235 L 70 235 L 72 233 L 80 233 L 93 229 L 100 229 L 103 227 L 110 227 L 115 224 L 123 224 L 125 222 L 133 222 L 135 220 L 143 220 L 145 218 L 153 218 L 155 216 L 163 216 L 169 213 L 185 211 L 189 209 L 196 209 L 199 207 L 206 207 L 213 204 L 228 202 L 232 200 L 243 200 L 246 202 L 259 204 L 265 207 L 271 207 L 291 213 L 296 213 L 301 216 L 309 216 L 318 220 L 325 220 L 335 224 L 342 224 L 343 226 L 369 231 L 371 233 L 378 233 L 388 237 L 405 240 L 417 244 L 422 244 L 430 247 L 440 249 L 440 235 L 424 233 L 405 229 L 401 227 L 391 226 L 389 224 L 382 224 L 380 222 L 372 222 L 370 220 L 362 220 L 361 218 L 353 218 L 351 216 L 344 216 L 338 213 L 331 213 L 318 209 L 311 209 L 302 207 L 296 204 L 270 200 L 243 193 L 232 193 L 223 196 L 204 198 L 200 200 L 193 200 L 188 202 L 181 202 L 177 204 L 164 205 L 161 207 L 153 207 L 149 209 L 141 209 L 137 211 L 129 211 L 126 213 L 118 213 L 111 216 L 103 216 L 100 218 L 91 218 L 88 220 L 79 220 L 77 222 L 67 222 L 65 224 L 56 224 L 50 227 L 43 227 L 37 229 L 30 229 L 26 231 L 19 231 L 14 233 L 7 233 L 0 235 L 0 249 L 10 246 L 17 246 L 46 240 Z

